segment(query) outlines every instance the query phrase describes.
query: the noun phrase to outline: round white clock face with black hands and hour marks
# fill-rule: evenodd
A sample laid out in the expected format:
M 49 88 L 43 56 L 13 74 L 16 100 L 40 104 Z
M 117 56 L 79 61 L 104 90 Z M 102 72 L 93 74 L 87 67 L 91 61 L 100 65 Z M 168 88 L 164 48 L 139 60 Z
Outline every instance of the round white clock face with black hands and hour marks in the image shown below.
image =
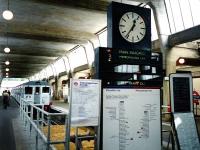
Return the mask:
M 125 13 L 119 21 L 121 36 L 131 43 L 140 42 L 146 34 L 146 25 L 143 18 L 134 12 Z

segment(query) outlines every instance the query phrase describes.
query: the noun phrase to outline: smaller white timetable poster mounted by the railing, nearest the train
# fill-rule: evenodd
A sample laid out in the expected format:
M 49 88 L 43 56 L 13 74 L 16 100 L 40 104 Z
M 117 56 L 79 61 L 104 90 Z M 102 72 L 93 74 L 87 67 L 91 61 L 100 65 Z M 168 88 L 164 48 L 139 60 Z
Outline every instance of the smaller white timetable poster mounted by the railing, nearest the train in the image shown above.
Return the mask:
M 94 79 L 71 79 L 71 126 L 96 126 L 99 122 L 101 82 Z

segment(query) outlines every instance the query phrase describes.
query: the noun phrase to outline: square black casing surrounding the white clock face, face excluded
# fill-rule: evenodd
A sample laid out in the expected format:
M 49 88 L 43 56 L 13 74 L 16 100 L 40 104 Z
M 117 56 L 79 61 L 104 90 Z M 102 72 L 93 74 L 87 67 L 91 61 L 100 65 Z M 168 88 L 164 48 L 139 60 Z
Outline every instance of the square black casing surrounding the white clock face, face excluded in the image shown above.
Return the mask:
M 137 43 L 126 41 L 120 34 L 119 22 L 121 17 L 127 12 L 139 14 L 145 22 L 145 37 Z M 151 10 L 148 8 L 112 2 L 107 11 L 107 47 L 122 48 L 129 50 L 151 50 Z

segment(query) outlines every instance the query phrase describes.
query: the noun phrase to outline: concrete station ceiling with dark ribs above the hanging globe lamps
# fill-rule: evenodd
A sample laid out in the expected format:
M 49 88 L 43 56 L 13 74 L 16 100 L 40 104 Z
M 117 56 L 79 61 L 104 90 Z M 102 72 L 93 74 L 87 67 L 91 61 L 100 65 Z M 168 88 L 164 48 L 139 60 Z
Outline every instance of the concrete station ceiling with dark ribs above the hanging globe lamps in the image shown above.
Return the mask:
M 129 0 L 131 1 L 131 0 Z M 0 69 L 5 77 L 26 78 L 78 44 L 97 38 L 95 33 L 107 24 L 111 0 L 10 0 L 14 13 L 10 21 L 0 16 Z M 118 1 L 121 2 L 121 1 Z M 0 0 L 0 14 L 8 7 Z M 9 54 L 3 49 L 11 48 Z

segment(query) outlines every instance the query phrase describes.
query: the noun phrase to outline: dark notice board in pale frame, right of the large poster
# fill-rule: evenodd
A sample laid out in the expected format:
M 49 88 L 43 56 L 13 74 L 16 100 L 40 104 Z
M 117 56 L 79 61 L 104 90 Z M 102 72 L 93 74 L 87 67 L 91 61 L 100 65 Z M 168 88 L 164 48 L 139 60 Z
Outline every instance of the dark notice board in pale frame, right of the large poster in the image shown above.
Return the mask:
M 170 74 L 170 98 L 173 113 L 193 112 L 191 74 Z

